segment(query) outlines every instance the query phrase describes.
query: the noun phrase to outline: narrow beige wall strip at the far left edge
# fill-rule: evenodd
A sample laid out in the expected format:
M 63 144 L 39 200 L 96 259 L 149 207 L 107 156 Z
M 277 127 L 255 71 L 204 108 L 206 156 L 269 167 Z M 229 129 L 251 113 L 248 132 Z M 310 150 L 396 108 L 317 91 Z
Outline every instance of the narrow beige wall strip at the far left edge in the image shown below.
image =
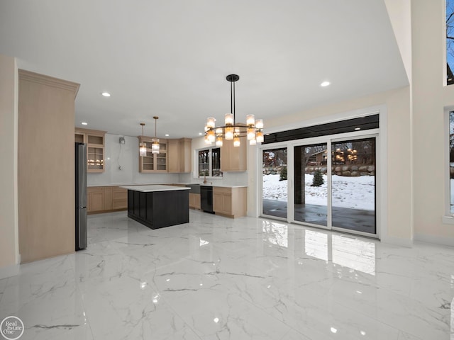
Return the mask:
M 17 217 L 17 67 L 0 55 L 0 279 L 18 264 Z

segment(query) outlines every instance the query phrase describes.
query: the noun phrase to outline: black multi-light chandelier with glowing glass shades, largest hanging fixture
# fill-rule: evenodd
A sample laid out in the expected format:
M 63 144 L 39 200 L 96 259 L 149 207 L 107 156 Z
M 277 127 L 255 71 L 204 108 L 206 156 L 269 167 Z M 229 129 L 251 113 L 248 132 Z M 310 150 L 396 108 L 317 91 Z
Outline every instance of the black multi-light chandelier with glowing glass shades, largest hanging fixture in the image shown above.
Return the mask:
M 222 147 L 223 140 L 233 140 L 233 146 L 240 146 L 240 137 L 247 137 L 250 145 L 263 142 L 263 120 L 255 119 L 254 115 L 246 115 L 246 123 L 236 123 L 235 119 L 235 82 L 240 79 L 237 74 L 229 74 L 231 113 L 224 117 L 224 125 L 216 127 L 216 119 L 206 118 L 205 142 L 216 142 L 216 147 Z

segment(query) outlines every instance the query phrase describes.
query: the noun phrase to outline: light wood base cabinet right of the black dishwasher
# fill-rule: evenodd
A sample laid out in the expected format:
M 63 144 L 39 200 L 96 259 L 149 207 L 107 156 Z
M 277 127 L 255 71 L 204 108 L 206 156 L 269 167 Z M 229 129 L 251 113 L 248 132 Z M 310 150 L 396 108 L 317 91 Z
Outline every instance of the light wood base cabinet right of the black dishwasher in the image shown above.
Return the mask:
M 245 216 L 248 188 L 213 188 L 213 210 L 228 217 Z

